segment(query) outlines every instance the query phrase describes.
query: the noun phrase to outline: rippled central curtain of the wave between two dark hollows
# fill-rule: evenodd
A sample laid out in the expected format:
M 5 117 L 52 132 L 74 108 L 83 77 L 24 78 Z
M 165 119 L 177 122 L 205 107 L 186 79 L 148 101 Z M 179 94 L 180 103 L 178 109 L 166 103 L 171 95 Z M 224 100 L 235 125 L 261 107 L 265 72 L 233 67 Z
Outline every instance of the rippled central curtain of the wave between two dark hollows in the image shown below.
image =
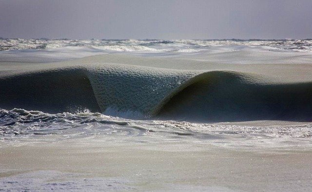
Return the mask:
M 200 72 L 110 63 L 98 64 L 87 73 L 102 111 L 110 107 L 154 115 L 165 96 Z

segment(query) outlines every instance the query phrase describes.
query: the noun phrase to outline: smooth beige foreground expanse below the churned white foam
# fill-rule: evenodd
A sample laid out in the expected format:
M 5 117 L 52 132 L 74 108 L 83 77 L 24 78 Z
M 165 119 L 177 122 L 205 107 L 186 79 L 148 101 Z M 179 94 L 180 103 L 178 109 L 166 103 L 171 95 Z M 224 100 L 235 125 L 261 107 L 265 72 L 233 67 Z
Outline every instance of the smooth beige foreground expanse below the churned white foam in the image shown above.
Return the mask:
M 88 138 L 1 144 L 0 154 L 1 179 L 57 171 L 77 173 L 75 180 L 126 180 L 125 189 L 139 191 L 312 188 L 312 151 L 302 148 L 234 150 L 195 142 L 119 143 Z M 66 181 L 66 178 L 58 179 Z

